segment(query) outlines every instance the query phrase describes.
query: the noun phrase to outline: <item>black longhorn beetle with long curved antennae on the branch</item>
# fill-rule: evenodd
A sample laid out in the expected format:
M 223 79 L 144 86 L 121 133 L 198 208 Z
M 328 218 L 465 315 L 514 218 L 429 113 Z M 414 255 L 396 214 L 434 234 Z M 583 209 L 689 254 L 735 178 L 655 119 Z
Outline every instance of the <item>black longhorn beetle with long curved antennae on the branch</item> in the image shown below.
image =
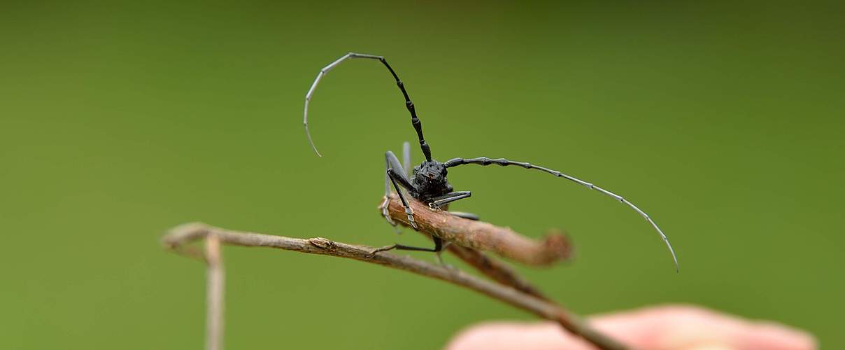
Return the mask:
M 305 111 L 304 111 L 304 118 L 303 124 L 305 125 L 305 134 L 308 136 L 308 143 L 313 148 L 314 152 L 317 153 L 317 156 L 320 155 L 317 147 L 313 143 L 313 139 L 311 139 L 311 133 L 308 131 L 308 102 L 311 101 L 313 97 L 314 89 L 317 88 L 317 84 L 319 84 L 320 79 L 323 79 L 325 74 L 328 74 L 332 68 L 337 67 L 337 65 L 341 64 L 342 62 L 346 61 L 350 58 L 370 58 L 374 60 L 378 60 L 387 70 L 390 71 L 390 74 L 393 75 L 393 79 L 396 80 L 396 85 L 399 86 L 399 90 L 402 92 L 402 96 L 405 97 L 405 107 L 408 109 L 408 112 L 411 113 L 411 124 L 414 127 L 414 130 L 417 131 L 417 138 L 419 139 L 420 149 L 423 150 L 423 156 L 425 156 L 425 161 L 414 167 L 413 172 L 409 173 L 408 169 L 410 166 L 410 147 L 407 143 L 403 146 L 403 165 L 399 162 L 399 159 L 391 152 L 390 150 L 384 154 L 384 160 L 387 166 L 386 175 L 384 179 L 384 192 L 385 198 L 388 198 L 390 195 L 390 184 L 393 184 L 393 188 L 396 190 L 396 194 L 399 194 L 399 199 L 402 202 L 402 206 L 405 207 L 405 213 L 408 216 L 408 221 L 411 223 L 411 226 L 416 230 L 417 229 L 417 222 L 414 220 L 414 213 L 411 210 L 411 207 L 408 205 L 405 196 L 402 194 L 402 189 L 404 188 L 408 191 L 413 198 L 422 201 L 423 203 L 428 204 L 428 206 L 432 210 L 439 210 L 441 206 L 447 205 L 455 200 L 462 200 L 465 198 L 470 197 L 472 193 L 470 191 L 454 191 L 452 186 L 449 184 L 449 181 L 446 179 L 446 173 L 450 167 L 457 167 L 464 164 L 478 164 L 481 166 L 488 166 L 490 164 L 496 164 L 501 167 L 507 166 L 517 166 L 517 167 L 524 167 L 526 169 L 537 169 L 542 172 L 548 172 L 558 178 L 565 178 L 570 180 L 574 183 L 581 184 L 588 189 L 595 189 L 602 194 L 607 195 L 614 200 L 619 200 L 620 202 L 628 205 L 639 213 L 642 217 L 646 219 L 651 224 L 651 227 L 654 227 L 657 230 L 657 233 L 660 234 L 660 237 L 663 239 L 663 242 L 666 243 L 666 246 L 669 249 L 669 253 L 672 254 L 672 260 L 675 263 L 675 270 L 679 269 L 678 265 L 678 258 L 675 256 L 674 249 L 672 249 L 672 244 L 669 243 L 669 239 L 666 238 L 666 235 L 663 234 L 660 227 L 657 227 L 657 224 L 651 220 L 644 211 L 641 211 L 640 208 L 637 208 L 636 205 L 631 203 L 628 200 L 625 200 L 619 194 L 614 194 L 613 192 L 608 191 L 607 189 L 602 189 L 592 183 L 588 183 L 586 181 L 580 180 L 578 178 L 573 178 L 563 172 L 559 172 L 556 170 L 549 169 L 547 167 L 538 167 L 532 165 L 531 163 L 523 162 L 523 161 L 509 161 L 504 158 L 495 158 L 491 159 L 486 156 L 477 157 L 477 158 L 452 158 L 446 162 L 439 162 L 434 160 L 431 157 L 431 147 L 428 146 L 425 138 L 423 137 L 423 124 L 420 123 L 419 118 L 417 118 L 417 109 L 414 107 L 414 103 L 411 101 L 411 97 L 408 97 L 408 92 L 405 90 L 405 85 L 399 79 L 399 76 L 396 75 L 396 72 L 393 68 L 390 67 L 390 64 L 387 63 L 387 60 L 381 56 L 375 55 L 368 55 L 363 53 L 355 53 L 349 52 L 341 58 L 338 58 L 335 62 L 330 63 L 328 66 L 325 66 L 323 69 L 320 69 L 319 74 L 317 74 L 317 78 L 314 79 L 313 84 L 311 85 L 311 89 L 308 89 L 308 94 L 305 95 Z M 410 178 L 409 178 L 410 176 Z M 387 212 L 387 205 L 389 200 L 385 199 L 380 209 L 382 210 L 382 215 L 384 219 L 387 220 L 390 225 L 396 226 L 395 221 L 390 219 L 390 216 Z M 459 213 L 459 212 L 451 212 L 451 214 L 456 216 L 465 217 L 471 220 L 478 220 L 478 217 L 469 213 Z M 417 247 L 409 247 L 406 245 L 395 244 L 393 246 L 388 247 L 387 249 L 404 249 L 404 250 L 421 250 L 421 251 L 430 251 L 439 253 L 441 250 L 445 248 L 445 245 L 442 239 L 432 236 L 434 241 L 434 248 L 417 248 Z M 447 243 L 448 244 L 448 243 Z M 383 249 L 379 249 L 383 250 Z

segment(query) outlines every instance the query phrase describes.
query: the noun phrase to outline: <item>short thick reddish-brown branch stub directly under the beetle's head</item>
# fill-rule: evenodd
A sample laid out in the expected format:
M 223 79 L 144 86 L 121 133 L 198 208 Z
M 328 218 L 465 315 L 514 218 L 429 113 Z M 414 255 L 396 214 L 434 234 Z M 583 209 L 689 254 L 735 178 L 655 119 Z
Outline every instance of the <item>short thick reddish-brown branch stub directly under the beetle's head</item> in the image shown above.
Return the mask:
M 409 200 L 419 231 L 428 233 L 464 248 L 489 251 L 526 265 L 550 265 L 568 259 L 572 252 L 569 240 L 559 234 L 548 235 L 542 241 L 525 238 L 508 227 L 498 227 L 484 221 L 473 221 L 432 211 L 418 200 Z M 390 195 L 390 218 L 410 227 L 399 196 Z

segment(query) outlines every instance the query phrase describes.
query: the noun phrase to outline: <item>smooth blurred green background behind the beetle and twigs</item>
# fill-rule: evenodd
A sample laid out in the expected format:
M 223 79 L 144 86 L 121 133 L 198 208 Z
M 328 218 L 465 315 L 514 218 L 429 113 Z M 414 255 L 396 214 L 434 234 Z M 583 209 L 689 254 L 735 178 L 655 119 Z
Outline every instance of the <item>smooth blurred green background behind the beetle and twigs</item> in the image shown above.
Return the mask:
M 577 259 L 520 267 L 581 314 L 706 305 L 845 347 L 842 2 L 25 2 L 0 5 L 0 347 L 198 348 L 204 267 L 185 221 L 373 246 L 384 151 L 569 172 L 653 216 L 519 168 L 461 167 L 454 205 Z M 414 161 L 422 159 L 414 149 Z M 433 260 L 431 254 L 414 254 Z M 229 348 L 441 347 L 533 320 L 400 271 L 226 248 Z M 454 258 L 450 263 L 459 265 Z

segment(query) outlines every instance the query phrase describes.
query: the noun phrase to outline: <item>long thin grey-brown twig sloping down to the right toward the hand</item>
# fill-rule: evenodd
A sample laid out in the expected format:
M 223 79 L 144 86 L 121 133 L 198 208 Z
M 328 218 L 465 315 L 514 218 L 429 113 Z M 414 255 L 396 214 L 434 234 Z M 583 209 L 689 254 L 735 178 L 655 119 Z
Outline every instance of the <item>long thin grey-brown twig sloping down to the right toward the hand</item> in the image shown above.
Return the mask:
M 227 231 L 210 227 L 201 223 L 185 224 L 175 227 L 164 238 L 162 243 L 169 249 L 179 253 L 188 253 L 188 243 L 213 235 L 221 243 L 245 247 L 270 247 L 293 250 L 308 254 L 331 255 L 341 258 L 360 260 L 372 264 L 384 265 L 398 270 L 409 271 L 417 275 L 428 276 L 441 281 L 472 289 L 491 298 L 524 309 L 547 320 L 553 320 L 565 329 L 582 336 L 600 349 L 626 349 L 622 344 L 608 336 L 593 330 L 585 320 L 571 314 L 559 306 L 548 301 L 522 293 L 512 287 L 506 287 L 494 282 L 482 280 L 465 272 L 432 265 L 410 256 L 379 253 L 371 254 L 373 248 L 360 245 L 333 242 L 326 238 L 286 238 L 253 232 Z

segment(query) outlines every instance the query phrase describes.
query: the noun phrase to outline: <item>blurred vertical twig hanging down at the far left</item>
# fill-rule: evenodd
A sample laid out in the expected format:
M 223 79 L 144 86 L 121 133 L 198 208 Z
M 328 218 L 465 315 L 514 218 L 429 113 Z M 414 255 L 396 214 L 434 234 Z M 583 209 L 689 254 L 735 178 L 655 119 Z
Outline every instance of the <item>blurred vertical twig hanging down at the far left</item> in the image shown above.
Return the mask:
M 223 349 L 223 261 L 220 238 L 209 234 L 205 238 L 205 262 L 208 265 L 205 349 Z

